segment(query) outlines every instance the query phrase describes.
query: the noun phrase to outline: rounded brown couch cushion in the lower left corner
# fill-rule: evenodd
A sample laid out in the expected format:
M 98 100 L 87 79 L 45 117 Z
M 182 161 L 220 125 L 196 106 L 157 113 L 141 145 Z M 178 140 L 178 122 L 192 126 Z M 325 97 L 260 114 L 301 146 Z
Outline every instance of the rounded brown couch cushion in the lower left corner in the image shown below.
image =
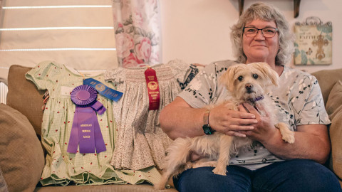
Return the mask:
M 0 104 L 0 168 L 9 191 L 33 191 L 44 166 L 43 149 L 28 119 Z

